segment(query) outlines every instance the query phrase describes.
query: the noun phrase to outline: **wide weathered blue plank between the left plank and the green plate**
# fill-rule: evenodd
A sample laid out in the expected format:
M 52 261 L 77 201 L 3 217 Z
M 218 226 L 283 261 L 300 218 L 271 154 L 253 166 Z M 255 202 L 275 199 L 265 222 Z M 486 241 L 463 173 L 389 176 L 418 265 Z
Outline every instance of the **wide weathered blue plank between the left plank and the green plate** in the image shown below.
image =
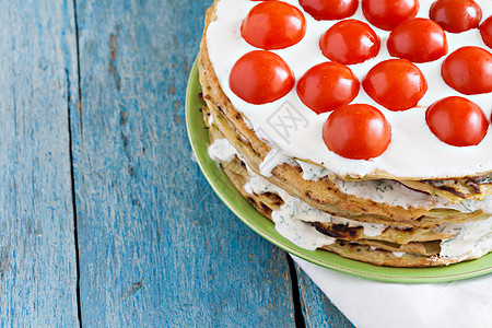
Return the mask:
M 191 160 L 185 90 L 212 1 L 77 2 L 83 325 L 294 326 L 285 254 Z

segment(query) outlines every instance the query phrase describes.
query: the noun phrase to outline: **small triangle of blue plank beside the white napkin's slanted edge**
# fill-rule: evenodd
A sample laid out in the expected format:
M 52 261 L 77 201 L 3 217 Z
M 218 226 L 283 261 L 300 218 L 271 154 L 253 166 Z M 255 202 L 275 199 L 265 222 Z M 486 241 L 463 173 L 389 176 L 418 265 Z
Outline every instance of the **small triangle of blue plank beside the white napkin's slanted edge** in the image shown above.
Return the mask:
M 297 265 L 295 271 L 306 327 L 354 327 Z

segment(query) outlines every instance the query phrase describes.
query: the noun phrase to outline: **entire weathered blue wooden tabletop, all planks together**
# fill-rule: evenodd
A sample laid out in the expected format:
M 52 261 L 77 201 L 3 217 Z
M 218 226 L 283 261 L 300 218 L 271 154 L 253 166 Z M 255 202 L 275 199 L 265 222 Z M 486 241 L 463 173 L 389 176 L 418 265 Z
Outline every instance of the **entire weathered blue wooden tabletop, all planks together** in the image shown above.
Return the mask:
M 2 327 L 350 327 L 194 162 L 212 0 L 2 1 Z

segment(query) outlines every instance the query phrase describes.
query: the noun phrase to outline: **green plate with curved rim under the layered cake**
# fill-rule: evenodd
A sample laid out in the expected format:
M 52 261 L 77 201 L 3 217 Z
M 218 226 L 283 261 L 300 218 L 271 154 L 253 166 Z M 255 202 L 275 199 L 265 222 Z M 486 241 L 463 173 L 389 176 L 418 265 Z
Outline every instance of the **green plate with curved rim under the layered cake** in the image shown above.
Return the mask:
M 446 282 L 472 278 L 492 272 L 492 254 L 481 259 L 438 268 L 389 268 L 377 267 L 340 257 L 325 250 L 306 250 L 282 237 L 270 220 L 260 215 L 229 181 L 225 174 L 208 153 L 208 130 L 204 129 L 201 112 L 203 105 L 197 97 L 201 92 L 198 81 L 197 62 L 195 62 L 186 92 L 186 125 L 191 148 L 203 175 L 216 195 L 246 225 L 270 243 L 285 249 L 292 255 L 318 266 L 349 274 L 386 282 L 423 283 Z

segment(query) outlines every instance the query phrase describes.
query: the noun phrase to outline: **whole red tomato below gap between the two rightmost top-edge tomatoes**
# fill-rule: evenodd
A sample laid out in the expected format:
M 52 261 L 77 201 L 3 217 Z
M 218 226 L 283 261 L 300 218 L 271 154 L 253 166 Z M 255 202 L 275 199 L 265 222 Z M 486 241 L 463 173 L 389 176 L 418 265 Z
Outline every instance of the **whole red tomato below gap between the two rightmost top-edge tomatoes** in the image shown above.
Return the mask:
M 434 21 L 412 19 L 398 25 L 388 38 L 391 56 L 412 62 L 427 62 L 447 54 L 446 33 Z

